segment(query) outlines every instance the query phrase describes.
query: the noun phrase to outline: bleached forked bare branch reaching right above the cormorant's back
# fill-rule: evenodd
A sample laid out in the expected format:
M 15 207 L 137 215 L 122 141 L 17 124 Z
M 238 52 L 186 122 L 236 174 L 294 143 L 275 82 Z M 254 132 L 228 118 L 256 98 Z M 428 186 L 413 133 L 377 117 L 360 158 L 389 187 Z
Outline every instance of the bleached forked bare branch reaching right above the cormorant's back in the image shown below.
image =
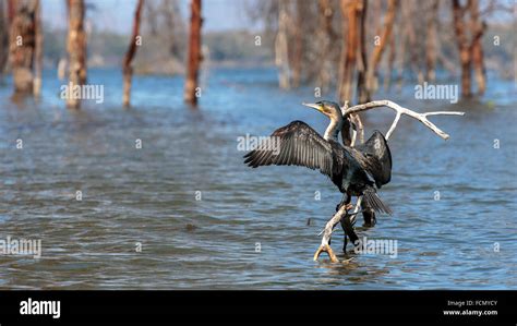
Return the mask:
M 366 111 L 370 109 L 374 108 L 382 108 L 382 107 L 388 107 L 393 109 L 397 114 L 395 116 L 395 120 L 392 123 L 392 126 L 389 128 L 388 132 L 386 133 L 386 140 L 389 138 L 392 133 L 395 131 L 395 128 L 397 126 L 398 121 L 400 120 L 400 117 L 402 114 L 409 116 L 413 119 L 417 119 L 420 121 L 423 125 L 426 128 L 431 129 L 435 134 L 441 136 L 444 140 L 447 140 L 449 137 L 448 134 L 443 132 L 441 129 L 438 129 L 434 123 L 428 120 L 429 116 L 464 116 L 465 112 L 457 112 L 457 111 L 435 111 L 435 112 L 424 112 L 424 113 L 419 113 L 411 111 L 409 109 L 402 108 L 401 106 L 397 105 L 396 102 L 393 102 L 390 100 L 374 100 L 370 101 L 366 104 L 349 107 L 349 108 L 344 108 L 341 111 L 344 112 L 344 116 L 347 114 L 353 114 L 358 113 L 361 111 Z

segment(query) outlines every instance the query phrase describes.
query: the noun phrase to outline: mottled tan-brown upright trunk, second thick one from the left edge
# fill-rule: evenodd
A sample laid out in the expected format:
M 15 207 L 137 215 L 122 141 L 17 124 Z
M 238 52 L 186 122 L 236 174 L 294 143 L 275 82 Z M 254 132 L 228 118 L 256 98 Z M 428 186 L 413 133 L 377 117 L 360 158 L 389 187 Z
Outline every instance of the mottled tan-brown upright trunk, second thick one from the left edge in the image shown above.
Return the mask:
M 69 52 L 69 85 L 86 84 L 86 33 L 84 32 L 84 0 L 68 0 L 69 35 L 67 49 Z M 71 96 L 69 89 L 67 106 L 79 109 L 81 99 Z

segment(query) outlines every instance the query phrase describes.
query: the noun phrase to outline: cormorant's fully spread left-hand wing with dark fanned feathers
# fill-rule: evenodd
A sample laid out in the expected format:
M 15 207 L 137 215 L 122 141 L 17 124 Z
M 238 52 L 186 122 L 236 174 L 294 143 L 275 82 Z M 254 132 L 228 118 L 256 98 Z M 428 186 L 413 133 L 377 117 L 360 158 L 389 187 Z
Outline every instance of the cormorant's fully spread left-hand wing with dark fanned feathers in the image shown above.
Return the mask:
M 292 121 L 277 129 L 267 144 L 244 155 L 244 164 L 261 166 L 302 166 L 318 169 L 340 184 L 344 172 L 344 148 L 336 142 L 325 141 L 314 129 L 302 121 Z

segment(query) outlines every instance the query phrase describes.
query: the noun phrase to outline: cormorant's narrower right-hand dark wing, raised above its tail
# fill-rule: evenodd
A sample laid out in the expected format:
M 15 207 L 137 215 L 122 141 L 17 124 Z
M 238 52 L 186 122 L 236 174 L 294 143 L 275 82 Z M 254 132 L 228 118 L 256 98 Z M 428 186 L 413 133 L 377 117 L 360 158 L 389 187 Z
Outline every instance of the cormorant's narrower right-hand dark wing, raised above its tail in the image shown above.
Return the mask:
M 358 160 L 375 179 L 377 188 L 388 183 L 392 179 L 392 153 L 384 135 L 376 130 L 364 144 L 354 148 L 364 156 L 365 159 Z

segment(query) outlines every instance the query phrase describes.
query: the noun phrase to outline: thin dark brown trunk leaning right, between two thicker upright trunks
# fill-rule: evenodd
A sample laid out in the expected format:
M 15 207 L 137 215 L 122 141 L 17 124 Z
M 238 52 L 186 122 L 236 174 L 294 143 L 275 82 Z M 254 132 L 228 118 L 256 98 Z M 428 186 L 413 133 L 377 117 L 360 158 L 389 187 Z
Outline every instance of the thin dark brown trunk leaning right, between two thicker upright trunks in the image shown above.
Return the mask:
M 133 62 L 133 58 L 136 55 L 136 46 L 139 46 L 139 35 L 140 35 L 140 21 L 142 14 L 142 7 L 144 4 L 144 0 L 139 0 L 136 3 L 136 9 L 134 11 L 134 19 L 133 19 L 133 34 L 131 35 L 131 41 L 128 47 L 128 52 L 125 52 L 124 61 L 122 63 L 122 73 L 123 73 L 123 95 L 122 95 L 122 104 L 124 107 L 130 106 L 131 101 L 131 79 L 133 76 L 133 67 L 131 63 Z

